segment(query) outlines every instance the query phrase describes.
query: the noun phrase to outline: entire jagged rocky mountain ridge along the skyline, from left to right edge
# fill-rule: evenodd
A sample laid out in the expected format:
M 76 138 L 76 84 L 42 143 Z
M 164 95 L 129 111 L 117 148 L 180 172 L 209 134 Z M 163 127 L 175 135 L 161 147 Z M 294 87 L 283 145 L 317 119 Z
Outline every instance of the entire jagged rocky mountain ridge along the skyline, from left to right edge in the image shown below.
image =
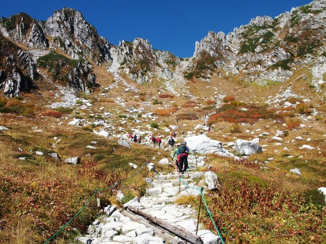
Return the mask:
M 27 49 L 57 50 L 72 60 L 105 63 L 109 72 L 126 75 L 138 84 L 159 80 L 177 85 L 184 84 L 184 79 L 210 81 L 213 77 L 228 79 L 229 75 L 261 83 L 283 82 L 295 69 L 323 66 L 325 19 L 325 0 L 293 8 L 274 19 L 256 17 L 227 35 L 209 32 L 196 42 L 193 57 L 186 61 L 168 51 L 154 50 L 141 38 L 118 46 L 109 44 L 80 12 L 69 8 L 40 22 L 24 13 L 3 17 L 0 31 Z

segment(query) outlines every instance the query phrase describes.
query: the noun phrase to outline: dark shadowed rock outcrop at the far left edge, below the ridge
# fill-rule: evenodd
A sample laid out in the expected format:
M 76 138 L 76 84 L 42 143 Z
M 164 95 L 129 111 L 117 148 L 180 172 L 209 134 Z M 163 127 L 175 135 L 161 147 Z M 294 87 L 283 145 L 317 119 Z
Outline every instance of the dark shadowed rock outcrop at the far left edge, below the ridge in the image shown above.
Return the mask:
M 0 89 L 10 97 L 18 96 L 36 78 L 36 64 L 29 54 L 0 35 Z

